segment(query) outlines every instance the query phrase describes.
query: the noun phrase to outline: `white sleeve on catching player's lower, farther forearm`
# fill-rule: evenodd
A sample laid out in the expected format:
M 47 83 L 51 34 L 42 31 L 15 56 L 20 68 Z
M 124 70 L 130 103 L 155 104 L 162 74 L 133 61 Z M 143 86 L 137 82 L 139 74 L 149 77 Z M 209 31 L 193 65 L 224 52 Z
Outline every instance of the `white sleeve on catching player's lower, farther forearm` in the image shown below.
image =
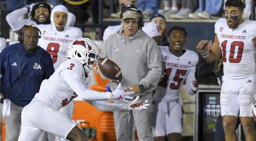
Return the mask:
M 127 104 L 115 104 L 106 101 L 86 101 L 93 107 L 97 108 L 99 111 L 105 112 L 120 112 L 127 111 Z

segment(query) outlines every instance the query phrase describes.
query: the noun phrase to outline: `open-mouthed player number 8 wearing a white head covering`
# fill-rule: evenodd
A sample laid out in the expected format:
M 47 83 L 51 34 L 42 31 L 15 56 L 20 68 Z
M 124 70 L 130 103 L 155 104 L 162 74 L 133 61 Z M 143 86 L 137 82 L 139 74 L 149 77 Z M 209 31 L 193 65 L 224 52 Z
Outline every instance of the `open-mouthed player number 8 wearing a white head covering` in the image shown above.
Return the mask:
M 62 62 L 67 60 L 66 54 L 69 43 L 82 37 L 82 31 L 79 28 L 66 26 L 67 20 L 69 20 L 68 14 L 65 6 L 55 6 L 50 14 L 51 24 L 38 25 L 42 32 L 41 38 L 38 40 L 38 46 L 45 49 L 52 56 L 55 70 Z M 72 119 L 74 115 L 74 100 L 59 111 Z

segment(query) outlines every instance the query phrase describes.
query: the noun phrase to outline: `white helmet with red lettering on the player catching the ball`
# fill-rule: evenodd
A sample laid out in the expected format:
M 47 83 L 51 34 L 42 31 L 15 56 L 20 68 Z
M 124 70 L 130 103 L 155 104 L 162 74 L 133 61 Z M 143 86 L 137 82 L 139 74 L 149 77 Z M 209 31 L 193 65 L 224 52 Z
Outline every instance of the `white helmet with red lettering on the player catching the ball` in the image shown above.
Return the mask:
M 78 38 L 72 41 L 67 47 L 67 58 L 74 58 L 81 62 L 87 73 L 93 70 L 97 74 L 98 59 L 101 57 L 101 52 L 94 41 L 89 38 Z M 91 61 L 93 64 L 88 65 Z

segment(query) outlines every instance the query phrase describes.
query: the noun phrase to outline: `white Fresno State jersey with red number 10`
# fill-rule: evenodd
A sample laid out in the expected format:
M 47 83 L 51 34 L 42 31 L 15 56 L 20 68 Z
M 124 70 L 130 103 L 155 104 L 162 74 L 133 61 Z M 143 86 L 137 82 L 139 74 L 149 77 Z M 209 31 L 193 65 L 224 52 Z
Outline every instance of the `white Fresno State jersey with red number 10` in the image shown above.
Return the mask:
M 232 79 L 252 76 L 256 72 L 256 49 L 252 42 L 256 37 L 256 21 L 245 20 L 233 30 L 221 18 L 214 27 L 222 50 L 224 76 Z

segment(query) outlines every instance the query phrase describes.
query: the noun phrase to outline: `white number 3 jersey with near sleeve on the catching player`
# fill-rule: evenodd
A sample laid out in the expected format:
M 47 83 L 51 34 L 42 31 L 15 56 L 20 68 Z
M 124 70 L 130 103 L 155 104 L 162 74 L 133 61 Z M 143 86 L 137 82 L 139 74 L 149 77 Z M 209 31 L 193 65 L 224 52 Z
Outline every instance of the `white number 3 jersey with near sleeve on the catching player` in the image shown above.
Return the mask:
M 87 76 L 87 77 L 86 77 Z M 43 80 L 40 90 L 35 94 L 56 110 L 69 104 L 79 96 L 83 100 L 109 100 L 109 92 L 97 92 L 90 89 L 91 77 L 85 74 L 82 64 L 76 59 L 61 63 L 49 79 Z

